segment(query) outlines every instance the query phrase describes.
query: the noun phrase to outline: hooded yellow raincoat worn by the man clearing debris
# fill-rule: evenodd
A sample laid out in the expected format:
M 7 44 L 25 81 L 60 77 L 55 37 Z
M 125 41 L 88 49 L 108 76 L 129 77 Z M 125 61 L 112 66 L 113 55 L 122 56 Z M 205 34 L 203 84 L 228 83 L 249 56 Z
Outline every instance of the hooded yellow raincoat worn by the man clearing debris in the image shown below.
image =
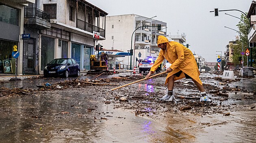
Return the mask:
M 185 78 L 184 73 L 186 73 L 202 85 L 202 82 L 199 78 L 200 72 L 198 70 L 195 57 L 191 50 L 178 42 L 169 42 L 165 36 L 158 36 L 157 44 L 161 43 L 167 43 L 167 49 L 164 51 L 160 50 L 159 56 L 156 59 L 154 65 L 151 67 L 150 71 L 156 71 L 157 67 L 163 62 L 164 59 L 166 59 L 171 63 L 170 68 L 172 69 L 172 71 L 168 73 L 165 84 L 167 84 L 168 78 L 170 76 L 176 74 L 178 71 L 181 70 L 183 71 L 182 74 L 180 74 L 179 77 L 175 77 L 174 80 Z

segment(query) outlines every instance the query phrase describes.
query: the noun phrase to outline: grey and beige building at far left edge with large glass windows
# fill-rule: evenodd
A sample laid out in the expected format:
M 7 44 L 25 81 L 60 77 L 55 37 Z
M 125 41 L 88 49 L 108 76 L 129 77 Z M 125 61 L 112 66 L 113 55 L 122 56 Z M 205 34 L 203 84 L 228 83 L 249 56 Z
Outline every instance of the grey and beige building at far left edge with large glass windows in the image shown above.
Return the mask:
M 22 73 L 23 40 L 20 36 L 24 29 L 24 7 L 30 3 L 35 0 L 0 0 L 0 74 L 15 74 L 16 70 Z M 17 69 L 12 57 L 13 46 L 17 46 L 20 53 Z

